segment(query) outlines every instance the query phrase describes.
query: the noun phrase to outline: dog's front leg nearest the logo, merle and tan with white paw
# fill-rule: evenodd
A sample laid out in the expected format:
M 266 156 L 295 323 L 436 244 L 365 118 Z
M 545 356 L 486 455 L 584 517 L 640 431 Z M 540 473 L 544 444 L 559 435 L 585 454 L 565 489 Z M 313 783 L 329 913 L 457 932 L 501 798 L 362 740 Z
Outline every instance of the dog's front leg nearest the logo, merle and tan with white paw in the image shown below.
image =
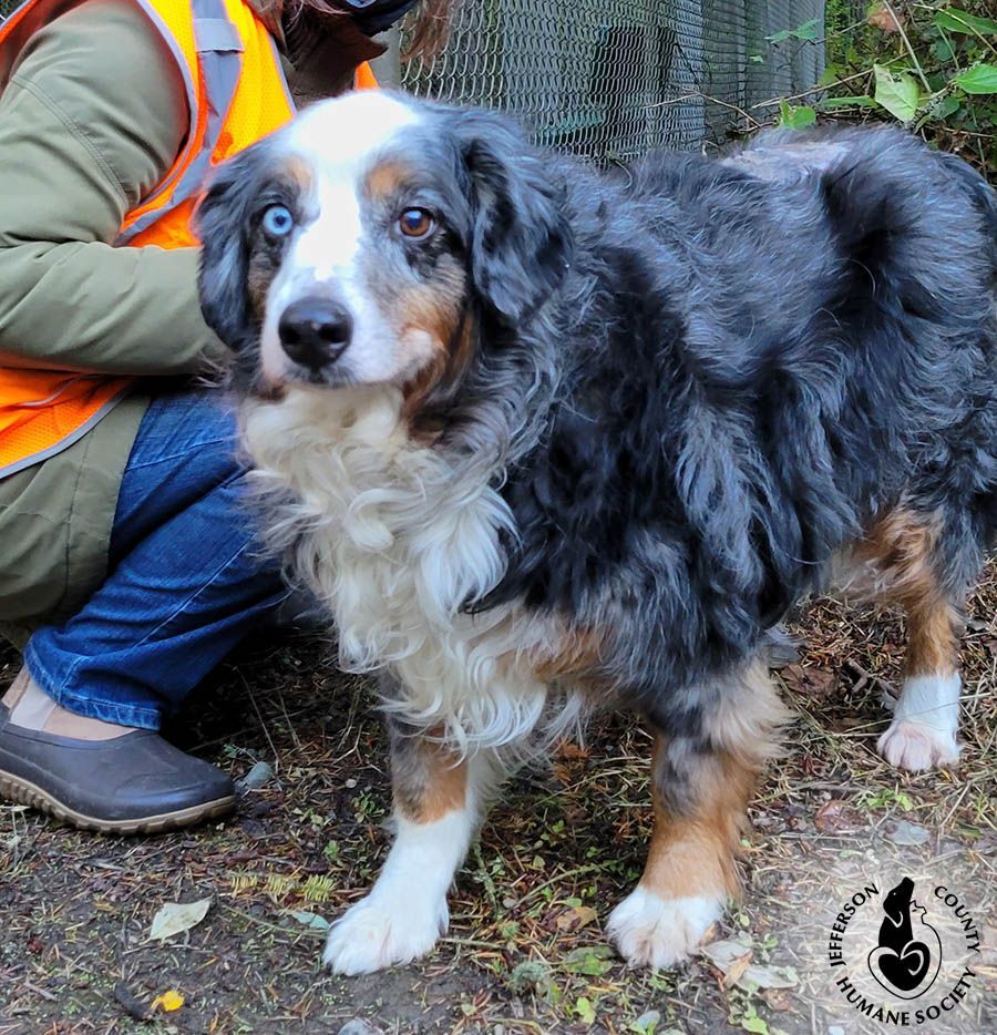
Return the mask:
M 698 729 L 656 734 L 655 826 L 637 888 L 613 911 L 609 935 L 627 962 L 683 960 L 718 920 L 739 879 L 734 863 L 746 809 L 775 731 L 787 718 L 761 662 L 731 677 Z

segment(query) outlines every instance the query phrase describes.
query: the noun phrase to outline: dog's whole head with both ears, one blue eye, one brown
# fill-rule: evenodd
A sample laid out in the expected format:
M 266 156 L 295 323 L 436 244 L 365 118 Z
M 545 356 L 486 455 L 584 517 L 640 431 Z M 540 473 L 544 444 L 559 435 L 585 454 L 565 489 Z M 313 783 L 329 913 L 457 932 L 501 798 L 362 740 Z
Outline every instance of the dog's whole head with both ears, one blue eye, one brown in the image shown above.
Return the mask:
M 244 385 L 428 394 L 479 315 L 517 326 L 564 276 L 569 232 L 506 120 L 366 92 L 309 109 L 218 172 L 198 214 L 202 306 Z

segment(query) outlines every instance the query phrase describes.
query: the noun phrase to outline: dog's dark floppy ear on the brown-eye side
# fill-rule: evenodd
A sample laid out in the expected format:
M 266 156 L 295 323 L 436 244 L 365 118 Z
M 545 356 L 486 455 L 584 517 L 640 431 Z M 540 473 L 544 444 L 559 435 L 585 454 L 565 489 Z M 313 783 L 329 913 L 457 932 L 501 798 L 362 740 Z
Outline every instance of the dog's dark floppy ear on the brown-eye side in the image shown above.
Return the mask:
M 518 324 L 546 301 L 571 266 L 564 189 L 506 119 L 486 112 L 454 117 L 474 212 L 471 276 L 482 300 Z

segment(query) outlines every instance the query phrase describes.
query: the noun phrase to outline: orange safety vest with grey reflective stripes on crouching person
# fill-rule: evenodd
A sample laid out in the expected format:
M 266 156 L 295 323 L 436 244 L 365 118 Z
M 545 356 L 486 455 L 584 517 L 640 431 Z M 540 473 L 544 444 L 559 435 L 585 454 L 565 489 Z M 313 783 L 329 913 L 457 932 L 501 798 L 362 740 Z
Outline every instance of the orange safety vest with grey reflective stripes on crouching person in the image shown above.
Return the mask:
M 39 28 L 80 0 L 27 0 L 0 24 L 0 92 Z M 284 125 L 294 102 L 274 39 L 244 0 L 134 0 L 176 59 L 191 131 L 172 168 L 132 212 L 120 247 L 197 244 L 191 226 L 205 175 Z M 369 66 L 357 86 L 376 86 Z M 129 377 L 0 367 L 0 478 L 53 455 L 124 394 Z

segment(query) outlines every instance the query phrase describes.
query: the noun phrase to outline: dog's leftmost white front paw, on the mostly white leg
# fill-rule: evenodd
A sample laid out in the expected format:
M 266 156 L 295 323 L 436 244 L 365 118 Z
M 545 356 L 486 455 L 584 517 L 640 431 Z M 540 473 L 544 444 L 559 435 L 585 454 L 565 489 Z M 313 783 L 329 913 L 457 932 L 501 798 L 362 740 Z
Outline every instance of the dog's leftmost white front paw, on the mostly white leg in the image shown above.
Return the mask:
M 332 925 L 322 962 L 333 974 L 370 974 L 425 955 L 446 930 L 445 901 L 439 906 L 369 894 Z

